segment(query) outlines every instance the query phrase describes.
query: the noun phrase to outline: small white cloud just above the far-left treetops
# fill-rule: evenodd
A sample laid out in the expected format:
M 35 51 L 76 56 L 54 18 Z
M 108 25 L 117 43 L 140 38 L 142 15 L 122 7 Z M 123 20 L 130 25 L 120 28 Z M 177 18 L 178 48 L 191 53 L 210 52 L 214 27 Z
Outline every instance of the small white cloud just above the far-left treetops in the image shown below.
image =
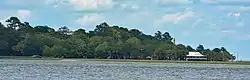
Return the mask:
M 27 20 L 31 15 L 31 11 L 30 10 L 18 10 L 16 15 L 21 20 Z

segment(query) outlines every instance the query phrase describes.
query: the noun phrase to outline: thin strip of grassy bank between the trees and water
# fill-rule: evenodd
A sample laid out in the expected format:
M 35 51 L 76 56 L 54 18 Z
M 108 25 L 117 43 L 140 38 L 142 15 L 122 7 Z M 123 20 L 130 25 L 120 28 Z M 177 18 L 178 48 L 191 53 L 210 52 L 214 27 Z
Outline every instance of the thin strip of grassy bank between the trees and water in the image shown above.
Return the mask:
M 237 64 L 237 65 L 250 65 L 250 61 L 241 62 L 225 62 L 225 61 L 171 61 L 171 60 L 133 60 L 133 59 L 81 59 L 81 58 L 32 58 L 23 56 L 0 56 L 0 59 L 14 59 L 14 60 L 78 60 L 78 61 L 103 61 L 103 62 L 144 62 L 144 63 L 193 63 L 193 64 Z

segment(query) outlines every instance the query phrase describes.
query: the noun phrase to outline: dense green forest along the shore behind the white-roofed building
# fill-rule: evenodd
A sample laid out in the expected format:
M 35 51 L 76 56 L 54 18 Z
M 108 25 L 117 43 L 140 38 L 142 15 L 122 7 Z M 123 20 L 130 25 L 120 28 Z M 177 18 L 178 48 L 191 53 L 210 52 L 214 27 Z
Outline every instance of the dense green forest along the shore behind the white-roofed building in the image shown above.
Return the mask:
M 41 55 L 55 58 L 184 60 L 189 51 L 198 51 L 210 61 L 234 60 L 226 48 L 205 49 L 175 44 L 168 32 L 146 35 L 137 29 L 97 25 L 93 31 L 71 31 L 64 26 L 55 30 L 48 26 L 31 26 L 17 17 L 6 25 L 0 23 L 0 56 Z

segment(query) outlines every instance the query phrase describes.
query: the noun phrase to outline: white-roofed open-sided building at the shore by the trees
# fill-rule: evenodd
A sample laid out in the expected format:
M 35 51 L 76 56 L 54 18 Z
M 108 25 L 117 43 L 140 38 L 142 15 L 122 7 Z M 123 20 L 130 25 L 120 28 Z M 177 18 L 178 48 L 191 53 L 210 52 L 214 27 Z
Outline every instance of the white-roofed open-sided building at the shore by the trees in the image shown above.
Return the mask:
M 186 56 L 186 61 L 188 60 L 207 60 L 207 56 L 202 55 L 200 52 L 189 52 Z

